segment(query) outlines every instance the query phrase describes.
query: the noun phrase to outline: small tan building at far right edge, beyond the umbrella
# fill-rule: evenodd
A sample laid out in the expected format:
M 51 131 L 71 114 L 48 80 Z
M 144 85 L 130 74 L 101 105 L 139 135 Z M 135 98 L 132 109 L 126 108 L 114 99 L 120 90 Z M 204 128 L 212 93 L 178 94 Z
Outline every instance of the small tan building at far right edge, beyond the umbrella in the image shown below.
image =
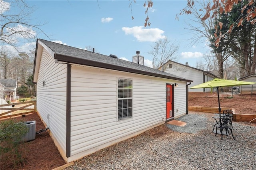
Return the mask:
M 239 79 L 240 81 L 256 82 L 256 74 L 248 75 Z M 245 94 L 256 94 L 256 84 L 252 85 L 241 85 L 240 93 Z

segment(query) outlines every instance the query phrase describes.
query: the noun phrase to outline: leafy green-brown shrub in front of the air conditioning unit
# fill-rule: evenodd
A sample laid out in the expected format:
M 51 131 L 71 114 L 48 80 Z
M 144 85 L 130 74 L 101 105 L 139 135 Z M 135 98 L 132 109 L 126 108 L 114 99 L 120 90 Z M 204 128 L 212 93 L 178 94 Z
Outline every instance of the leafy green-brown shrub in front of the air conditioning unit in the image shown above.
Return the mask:
M 3 158 L 9 160 L 14 168 L 21 166 L 25 161 L 22 146 L 24 136 L 29 130 L 28 127 L 9 119 L 1 121 L 0 128 L 0 152 Z

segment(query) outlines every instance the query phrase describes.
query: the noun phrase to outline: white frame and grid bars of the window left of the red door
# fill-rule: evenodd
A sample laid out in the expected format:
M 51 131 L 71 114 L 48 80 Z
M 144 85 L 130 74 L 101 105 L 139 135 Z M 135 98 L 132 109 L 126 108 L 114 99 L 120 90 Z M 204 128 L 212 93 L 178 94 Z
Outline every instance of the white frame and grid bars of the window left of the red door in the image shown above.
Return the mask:
M 131 90 L 131 97 L 120 97 L 118 98 L 118 89 L 121 89 L 120 87 L 118 88 L 118 82 L 119 82 L 119 79 L 122 79 L 122 80 L 127 80 L 127 81 L 132 81 L 132 88 L 128 88 L 128 90 L 130 89 Z M 122 77 L 117 77 L 116 78 L 116 120 L 117 121 L 122 121 L 122 120 L 126 120 L 126 119 L 130 119 L 133 117 L 133 80 L 132 79 L 128 79 L 128 78 L 122 78 Z M 124 87 L 122 87 L 122 92 L 124 91 Z M 123 93 L 124 94 L 124 93 Z M 127 93 L 127 96 L 128 96 L 129 93 Z M 128 107 L 128 103 L 127 103 L 127 108 L 126 109 L 131 109 L 130 110 L 130 116 L 127 115 L 127 117 L 123 116 L 123 117 L 118 117 L 118 112 L 120 111 L 120 108 L 118 108 L 118 103 L 119 101 L 124 101 L 124 100 L 131 100 L 131 107 Z M 124 110 L 125 108 L 122 107 L 122 110 Z M 128 110 L 127 110 L 128 112 Z

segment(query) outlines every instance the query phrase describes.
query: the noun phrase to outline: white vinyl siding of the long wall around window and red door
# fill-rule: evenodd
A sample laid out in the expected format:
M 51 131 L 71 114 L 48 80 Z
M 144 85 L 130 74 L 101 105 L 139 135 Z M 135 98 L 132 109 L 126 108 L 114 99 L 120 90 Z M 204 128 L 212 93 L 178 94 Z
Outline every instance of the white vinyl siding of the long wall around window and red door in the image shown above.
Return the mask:
M 117 79 L 132 79 L 132 118 L 116 121 Z M 127 135 L 164 123 L 166 83 L 174 89 L 177 115 L 186 113 L 186 82 L 86 66 L 71 66 L 71 156 L 95 152 Z M 179 94 L 182 93 L 182 94 Z M 178 101 L 176 103 L 176 100 Z M 176 107 L 177 105 L 177 107 Z M 94 148 L 94 149 L 93 149 Z M 90 150 L 91 151 L 87 151 Z M 73 159 L 73 158 L 72 158 Z

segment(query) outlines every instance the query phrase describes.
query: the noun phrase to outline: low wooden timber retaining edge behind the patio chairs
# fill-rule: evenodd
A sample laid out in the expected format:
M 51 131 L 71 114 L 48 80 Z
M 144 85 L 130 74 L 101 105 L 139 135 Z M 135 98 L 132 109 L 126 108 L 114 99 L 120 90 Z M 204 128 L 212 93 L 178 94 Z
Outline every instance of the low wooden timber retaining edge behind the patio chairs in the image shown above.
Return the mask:
M 202 107 L 202 106 L 188 106 L 188 111 L 196 111 L 196 112 L 206 112 L 206 113 L 218 113 L 218 107 Z M 235 109 L 222 107 L 221 110 L 232 110 L 233 114 L 233 121 L 236 122 L 250 122 L 256 123 L 256 115 L 251 114 L 236 114 Z

